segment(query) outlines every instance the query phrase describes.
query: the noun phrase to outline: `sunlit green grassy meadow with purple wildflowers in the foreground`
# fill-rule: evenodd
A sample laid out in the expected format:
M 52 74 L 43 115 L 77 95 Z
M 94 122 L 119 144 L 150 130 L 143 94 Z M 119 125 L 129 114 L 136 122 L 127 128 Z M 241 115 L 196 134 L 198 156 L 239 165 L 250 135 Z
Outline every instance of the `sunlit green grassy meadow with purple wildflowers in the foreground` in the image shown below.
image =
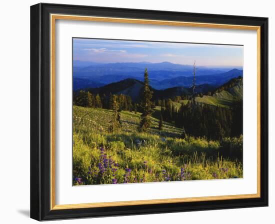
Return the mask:
M 112 110 L 73 105 L 73 184 L 112 184 L 242 177 L 242 135 L 207 140 L 181 137 L 159 108 L 146 132 L 139 112 L 122 110 L 120 128 L 110 132 Z

